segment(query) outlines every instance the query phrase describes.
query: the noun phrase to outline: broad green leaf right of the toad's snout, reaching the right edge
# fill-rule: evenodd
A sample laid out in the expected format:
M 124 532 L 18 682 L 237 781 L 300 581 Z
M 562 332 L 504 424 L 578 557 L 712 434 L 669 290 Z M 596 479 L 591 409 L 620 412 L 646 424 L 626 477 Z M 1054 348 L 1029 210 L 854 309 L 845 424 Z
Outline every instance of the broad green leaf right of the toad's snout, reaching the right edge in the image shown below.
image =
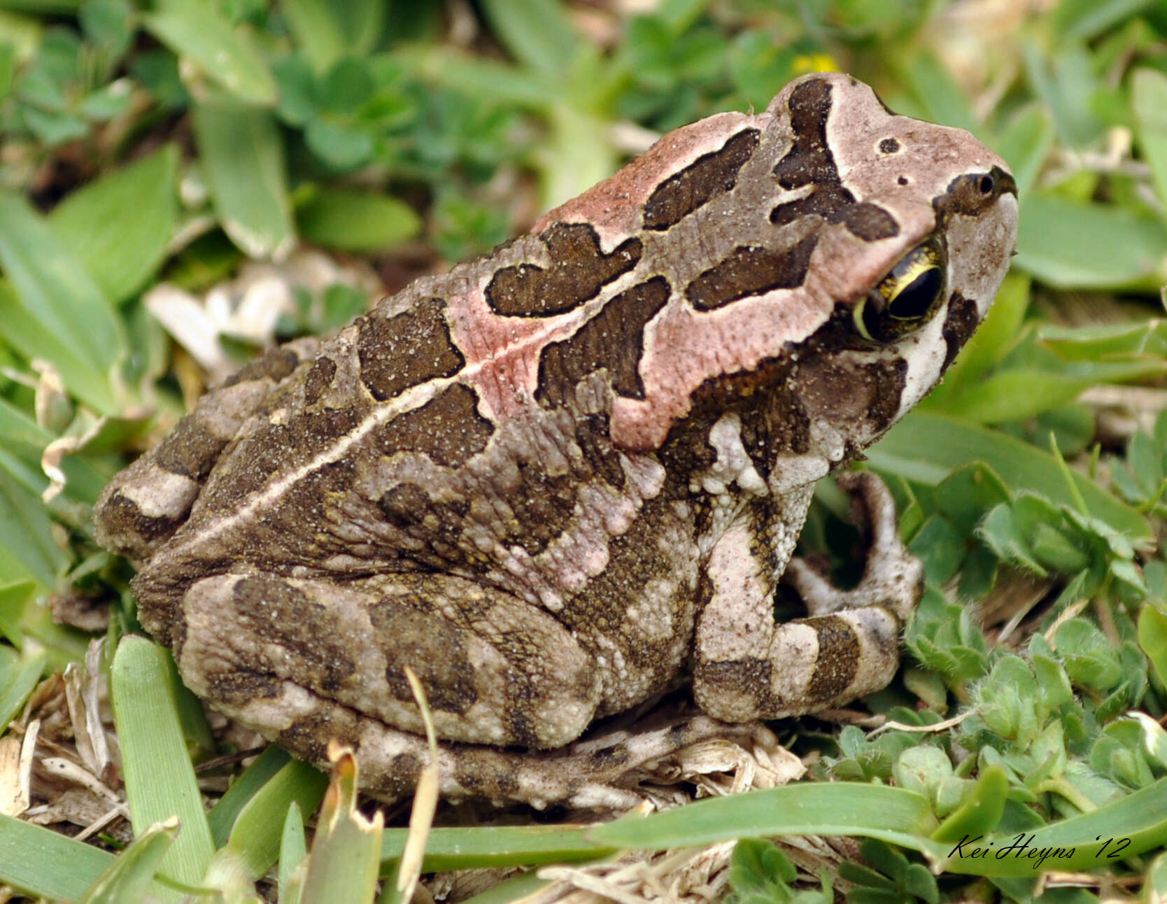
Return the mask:
M 1167 226 L 1104 204 L 1033 194 L 1022 202 L 1015 266 L 1057 288 L 1147 288 L 1167 281 Z

